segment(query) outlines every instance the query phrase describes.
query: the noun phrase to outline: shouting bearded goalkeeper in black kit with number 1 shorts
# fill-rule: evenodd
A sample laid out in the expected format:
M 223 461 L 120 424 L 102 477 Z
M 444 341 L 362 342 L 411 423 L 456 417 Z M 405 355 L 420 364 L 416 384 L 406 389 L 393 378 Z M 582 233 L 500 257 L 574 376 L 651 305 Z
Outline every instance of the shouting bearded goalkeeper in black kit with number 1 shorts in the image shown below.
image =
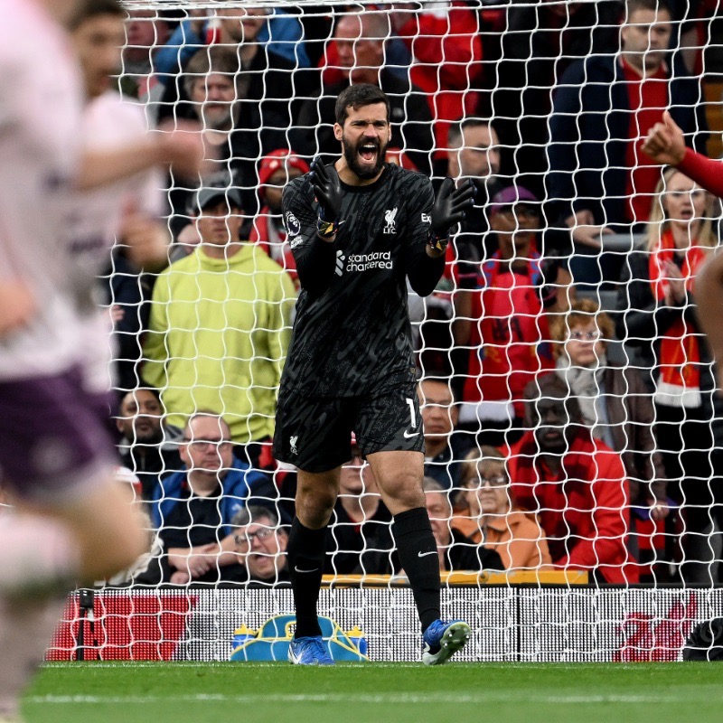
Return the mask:
M 301 282 L 281 378 L 274 451 L 296 465 L 296 518 L 288 563 L 296 606 L 289 660 L 331 664 L 316 618 L 326 525 L 355 433 L 381 497 L 422 625 L 428 665 L 469 639 L 440 620 L 439 560 L 422 492 L 424 436 L 407 309 L 407 278 L 430 294 L 445 268 L 449 233 L 473 202 L 470 183 L 442 184 L 386 164 L 390 103 L 376 86 L 336 100 L 342 157 L 286 186 L 283 217 Z

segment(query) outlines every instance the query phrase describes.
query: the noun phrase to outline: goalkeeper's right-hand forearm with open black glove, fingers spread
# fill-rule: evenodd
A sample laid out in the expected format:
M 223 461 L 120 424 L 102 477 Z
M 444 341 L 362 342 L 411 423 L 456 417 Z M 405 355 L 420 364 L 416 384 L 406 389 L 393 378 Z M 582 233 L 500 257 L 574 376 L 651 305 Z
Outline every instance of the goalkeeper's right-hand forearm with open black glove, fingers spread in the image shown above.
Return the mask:
M 444 273 L 451 232 L 474 202 L 474 186 L 468 181 L 455 188 L 455 182 L 446 178 L 437 198 L 428 182 L 415 198 L 408 214 L 411 228 L 405 270 L 412 289 L 419 296 L 428 296 Z

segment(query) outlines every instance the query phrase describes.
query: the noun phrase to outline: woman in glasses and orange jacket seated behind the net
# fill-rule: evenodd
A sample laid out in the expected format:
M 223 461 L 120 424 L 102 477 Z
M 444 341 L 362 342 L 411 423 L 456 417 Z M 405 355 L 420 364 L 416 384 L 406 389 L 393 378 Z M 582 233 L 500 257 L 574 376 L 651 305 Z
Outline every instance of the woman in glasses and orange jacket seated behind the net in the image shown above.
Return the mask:
M 496 551 L 505 569 L 551 569 L 545 532 L 534 514 L 512 502 L 506 461 L 498 449 L 483 446 L 467 455 L 462 486 L 466 508 L 452 519 L 453 529 Z

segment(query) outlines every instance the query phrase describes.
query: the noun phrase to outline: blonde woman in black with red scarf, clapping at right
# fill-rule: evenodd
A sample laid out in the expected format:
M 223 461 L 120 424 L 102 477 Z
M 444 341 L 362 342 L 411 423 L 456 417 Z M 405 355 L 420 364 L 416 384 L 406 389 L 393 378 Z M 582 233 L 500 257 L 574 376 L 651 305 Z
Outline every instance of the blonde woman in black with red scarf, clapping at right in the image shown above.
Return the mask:
M 618 336 L 652 352 L 655 436 L 684 521 L 682 577 L 709 583 L 710 533 L 723 529 L 723 402 L 700 332 L 695 277 L 718 245 L 709 194 L 675 168 L 656 190 L 647 251 L 631 254 L 618 307 Z

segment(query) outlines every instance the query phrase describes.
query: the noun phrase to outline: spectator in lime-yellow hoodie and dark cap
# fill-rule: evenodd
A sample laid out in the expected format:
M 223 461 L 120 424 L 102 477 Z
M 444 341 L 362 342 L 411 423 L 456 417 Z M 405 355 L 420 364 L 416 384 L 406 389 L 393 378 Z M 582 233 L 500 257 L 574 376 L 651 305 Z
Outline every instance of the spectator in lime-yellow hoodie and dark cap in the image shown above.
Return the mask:
M 160 390 L 170 424 L 212 409 L 248 446 L 273 432 L 296 294 L 284 269 L 240 238 L 240 213 L 233 187 L 196 193 L 201 243 L 155 283 L 142 373 Z

